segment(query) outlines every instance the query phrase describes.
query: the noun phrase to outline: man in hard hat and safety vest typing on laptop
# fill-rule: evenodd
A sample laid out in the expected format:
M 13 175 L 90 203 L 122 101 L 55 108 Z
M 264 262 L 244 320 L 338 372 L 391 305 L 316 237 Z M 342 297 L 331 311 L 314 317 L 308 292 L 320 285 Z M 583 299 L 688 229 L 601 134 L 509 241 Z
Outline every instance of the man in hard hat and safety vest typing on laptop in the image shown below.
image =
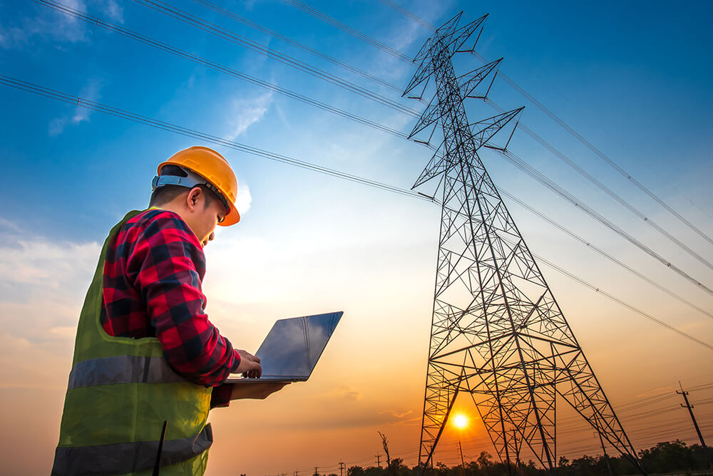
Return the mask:
M 266 398 L 260 358 L 233 348 L 205 314 L 203 247 L 237 223 L 237 179 L 215 150 L 158 166 L 149 208 L 104 242 L 77 326 L 53 475 L 202 475 L 208 410 Z M 255 382 L 223 383 L 230 373 Z

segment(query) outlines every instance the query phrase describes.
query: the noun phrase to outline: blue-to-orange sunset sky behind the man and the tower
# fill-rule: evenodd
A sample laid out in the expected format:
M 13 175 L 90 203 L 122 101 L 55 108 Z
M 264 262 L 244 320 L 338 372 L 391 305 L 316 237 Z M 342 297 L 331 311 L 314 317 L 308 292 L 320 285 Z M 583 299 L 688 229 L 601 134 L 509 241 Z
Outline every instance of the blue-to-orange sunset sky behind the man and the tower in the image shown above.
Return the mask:
M 214 0 L 173 5 L 356 83 L 396 103 L 416 69 L 287 1 Z M 155 167 L 174 152 L 208 145 L 237 172 L 242 220 L 206 247 L 207 313 L 237 348 L 257 349 L 277 319 L 344 311 L 307 383 L 264 401 L 215 410 L 207 475 L 338 472 L 374 465 L 389 438 L 392 456 L 418 458 L 440 210 L 430 202 L 294 167 L 235 148 L 151 128 L 125 118 L 6 86 L 33 83 L 145 118 L 292 157 L 400 189 L 410 189 L 431 151 L 418 143 L 329 113 L 238 76 L 257 78 L 408 134 L 416 119 L 314 75 L 212 36 L 135 1 L 63 0 L 104 24 L 139 33 L 222 71 L 101 29 L 34 2 L 0 1 L 0 460 L 16 475 L 46 474 L 58 440 L 83 296 L 101 244 L 130 209 L 148 204 Z M 309 6 L 412 57 L 431 31 L 377 0 Z M 525 106 L 521 123 L 647 218 L 636 217 L 552 152 L 518 130 L 509 150 L 703 286 L 713 287 L 713 246 L 679 221 L 636 180 L 704 235 L 713 234 L 713 38 L 707 2 L 399 0 L 441 25 L 489 14 L 476 51 L 504 58 L 500 71 L 590 148 L 498 76 L 489 97 L 506 110 Z M 284 38 L 379 78 L 372 81 Z M 232 36 L 235 38 L 235 36 Z M 481 66 L 461 54 L 456 71 Z M 1 81 L 0 81 L 1 82 Z M 431 91 L 431 94 L 433 92 Z M 426 97 L 430 99 L 430 96 Z M 476 122 L 495 111 L 466 103 Z M 637 449 L 697 438 L 675 393 L 679 382 L 713 439 L 713 351 L 652 319 L 713 345 L 713 296 L 562 200 L 496 152 L 481 156 L 496 186 L 575 234 L 582 244 L 506 197 L 525 242 L 597 378 Z M 632 177 L 630 179 L 628 176 Z M 421 191 L 421 189 L 419 189 Z M 432 192 L 423 190 L 425 193 Z M 701 259 L 657 232 L 659 225 Z M 679 299 L 593 250 L 602 249 Z M 592 289 L 593 288 L 593 289 Z M 600 290 L 599 292 L 596 289 Z M 606 294 L 625 302 L 623 306 Z M 698 308 L 698 309 L 695 309 Z M 644 316 L 642 314 L 646 314 Z M 600 454 L 591 430 L 561 405 L 558 454 Z M 495 451 L 472 402 L 458 433 L 448 427 L 436 461 L 455 465 Z M 559 410 L 558 410 L 559 412 Z

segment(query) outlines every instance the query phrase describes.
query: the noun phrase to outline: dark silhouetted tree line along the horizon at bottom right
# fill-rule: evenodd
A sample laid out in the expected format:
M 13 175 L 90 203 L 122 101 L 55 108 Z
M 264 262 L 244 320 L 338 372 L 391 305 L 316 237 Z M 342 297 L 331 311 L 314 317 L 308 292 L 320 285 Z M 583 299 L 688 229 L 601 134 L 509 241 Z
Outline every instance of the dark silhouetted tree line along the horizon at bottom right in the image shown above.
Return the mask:
M 383 435 L 382 438 L 385 440 Z M 713 449 L 701 445 L 688 446 L 681 440 L 657 443 L 647 450 L 639 452 L 639 460 L 649 473 L 659 472 L 687 472 L 695 470 L 711 470 L 713 464 Z M 361 467 L 352 466 L 347 470 L 347 476 L 547 476 L 548 472 L 535 465 L 535 462 L 520 462 L 508 465 L 493 459 L 493 456 L 483 451 L 472 461 L 466 462 L 465 467 L 456 465 L 449 467 L 442 462 L 436 462 L 431 468 L 426 468 L 425 473 L 419 466 L 408 467 L 401 458 L 389 459 L 386 467 Z M 557 465 L 559 476 L 601 476 L 601 475 L 635 475 L 638 474 L 632 465 L 623 456 L 588 456 L 568 460 L 560 456 Z M 313 476 L 337 476 L 319 475 Z

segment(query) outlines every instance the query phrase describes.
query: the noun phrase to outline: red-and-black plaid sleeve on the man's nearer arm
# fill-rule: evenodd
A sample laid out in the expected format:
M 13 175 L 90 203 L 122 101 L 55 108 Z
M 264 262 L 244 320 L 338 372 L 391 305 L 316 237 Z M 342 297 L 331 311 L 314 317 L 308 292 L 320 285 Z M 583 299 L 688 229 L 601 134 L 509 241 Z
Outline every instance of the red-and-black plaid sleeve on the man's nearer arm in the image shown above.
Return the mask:
M 240 356 L 205 314 L 205 255 L 188 225 L 173 212 L 156 215 L 135 242 L 128 269 L 169 365 L 199 385 L 220 385 Z

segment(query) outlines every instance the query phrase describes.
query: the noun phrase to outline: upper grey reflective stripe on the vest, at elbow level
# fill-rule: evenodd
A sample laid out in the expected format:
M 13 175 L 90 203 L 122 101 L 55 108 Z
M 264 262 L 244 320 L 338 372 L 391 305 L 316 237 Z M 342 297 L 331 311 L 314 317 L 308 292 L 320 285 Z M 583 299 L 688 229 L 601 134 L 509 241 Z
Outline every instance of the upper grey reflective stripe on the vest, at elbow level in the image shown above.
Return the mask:
M 69 374 L 68 390 L 112 383 L 175 383 L 187 380 L 163 357 L 114 356 L 77 362 Z

